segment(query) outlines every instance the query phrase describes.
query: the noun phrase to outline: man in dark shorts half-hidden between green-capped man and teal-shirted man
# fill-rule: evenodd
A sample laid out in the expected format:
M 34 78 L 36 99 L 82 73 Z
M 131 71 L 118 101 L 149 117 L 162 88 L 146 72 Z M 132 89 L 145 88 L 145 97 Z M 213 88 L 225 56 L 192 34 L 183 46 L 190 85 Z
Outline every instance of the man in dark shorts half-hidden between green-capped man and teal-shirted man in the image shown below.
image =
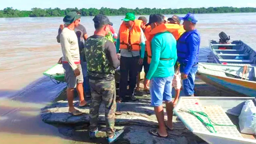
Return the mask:
M 145 26 L 147 24 L 147 18 L 144 17 L 144 16 L 140 16 L 138 18 L 138 20 L 142 20 L 141 29 L 143 30 L 143 32 L 145 34 L 145 37 L 146 37 L 146 34 L 148 34 L 149 31 L 151 30 L 150 26 L 147 26 L 147 27 Z M 137 88 L 136 88 L 136 91 L 138 91 L 138 92 L 140 91 L 140 72 L 142 71 L 142 67 L 144 67 L 144 73 L 145 73 L 144 80 L 145 80 L 147 72 L 148 72 L 148 68 L 149 68 L 149 64 L 147 63 L 147 51 L 146 51 L 146 49 L 145 49 L 143 63 L 140 65 L 140 68 L 138 69 L 139 71 L 138 71 L 138 76 L 137 76 Z M 148 90 L 149 90 L 148 86 L 144 85 L 144 91 L 148 91 Z

